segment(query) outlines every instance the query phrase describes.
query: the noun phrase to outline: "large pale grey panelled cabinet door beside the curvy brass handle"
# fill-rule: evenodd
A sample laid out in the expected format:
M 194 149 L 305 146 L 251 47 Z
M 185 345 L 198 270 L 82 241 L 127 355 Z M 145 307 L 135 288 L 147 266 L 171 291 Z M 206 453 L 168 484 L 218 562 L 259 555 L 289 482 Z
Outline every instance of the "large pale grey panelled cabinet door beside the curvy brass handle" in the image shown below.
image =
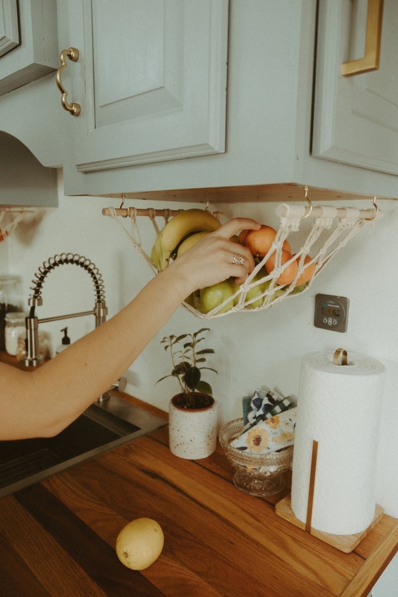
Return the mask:
M 227 0 L 68 5 L 80 53 L 68 101 L 81 104 L 63 115 L 69 165 L 90 173 L 224 152 Z

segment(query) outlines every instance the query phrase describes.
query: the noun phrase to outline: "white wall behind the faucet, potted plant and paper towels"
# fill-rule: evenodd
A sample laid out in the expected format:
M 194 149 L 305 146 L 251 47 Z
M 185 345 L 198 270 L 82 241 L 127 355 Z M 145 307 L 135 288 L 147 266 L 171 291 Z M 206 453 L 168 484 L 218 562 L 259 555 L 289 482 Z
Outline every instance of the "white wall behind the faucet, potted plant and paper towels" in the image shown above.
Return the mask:
M 22 276 L 27 304 L 32 278 L 43 261 L 62 252 L 83 255 L 95 263 L 103 276 L 111 317 L 149 281 L 152 272 L 118 224 L 101 214 L 101 209 L 107 205 L 118 207 L 118 201 L 65 198 L 61 176 L 59 187 L 58 208 L 20 224 L 7 241 L 0 243 L 0 271 Z M 312 199 L 316 198 L 313 196 Z M 132 205 L 131 202 L 127 204 Z M 342 204 L 334 202 L 334 205 Z M 369 201 L 350 205 L 371 207 Z M 163 202 L 149 205 L 140 201 L 135 207 L 176 206 Z M 177 207 L 193 205 L 178 204 Z M 277 225 L 275 204 L 217 204 L 210 207 L 223 211 L 226 219 L 248 216 Z M 214 348 L 215 355 L 209 359 L 209 365 L 218 370 L 218 375 L 209 372 L 206 380 L 212 384 L 220 405 L 220 423 L 241 416 L 242 397 L 257 387 L 277 387 L 283 394 L 297 396 L 301 356 L 306 352 L 344 347 L 348 353 L 351 350 L 373 356 L 387 368 L 382 412 L 375 408 L 375 417 L 381 417 L 377 499 L 385 512 L 398 516 L 398 203 L 380 201 L 380 207 L 384 218 L 359 232 L 302 296 L 289 298 L 262 312 L 234 313 L 209 321 L 178 309 L 127 372 L 128 392 L 167 410 L 169 399 L 178 387 L 172 379 L 156 384 L 170 370 L 169 357 L 159 341 L 165 335 L 193 332 L 200 327 L 211 330 L 208 346 Z M 150 247 L 155 233 L 149 220 L 142 224 L 140 220 L 141 225 L 143 240 Z M 349 298 L 346 333 L 314 327 L 314 296 L 317 293 Z M 94 285 L 88 273 L 80 267 L 64 265 L 48 274 L 42 298 L 43 306 L 36 309 L 39 318 L 91 310 Z M 94 316 L 42 324 L 42 329 L 53 337 L 54 349 L 61 339 L 60 330 L 66 325 L 74 341 L 94 327 Z M 350 404 L 340 416 L 355 416 Z

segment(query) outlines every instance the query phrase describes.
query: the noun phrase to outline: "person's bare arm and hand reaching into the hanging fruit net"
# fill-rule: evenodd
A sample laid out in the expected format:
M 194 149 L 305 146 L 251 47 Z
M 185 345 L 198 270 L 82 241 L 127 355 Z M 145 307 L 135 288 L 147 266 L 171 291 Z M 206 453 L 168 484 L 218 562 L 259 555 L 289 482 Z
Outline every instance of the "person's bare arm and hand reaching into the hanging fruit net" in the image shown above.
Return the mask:
M 0 364 L 0 439 L 59 433 L 125 373 L 189 294 L 229 277 L 245 281 L 253 257 L 229 239 L 259 226 L 230 220 L 155 276 L 112 319 L 32 373 Z M 236 253 L 243 264 L 232 263 Z

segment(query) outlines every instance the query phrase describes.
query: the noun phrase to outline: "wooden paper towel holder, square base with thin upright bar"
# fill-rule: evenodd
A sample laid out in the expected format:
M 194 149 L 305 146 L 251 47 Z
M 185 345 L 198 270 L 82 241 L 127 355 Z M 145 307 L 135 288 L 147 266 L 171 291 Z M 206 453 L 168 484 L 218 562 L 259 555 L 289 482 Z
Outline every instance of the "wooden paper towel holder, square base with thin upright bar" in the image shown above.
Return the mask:
M 310 469 L 310 484 L 308 488 L 308 504 L 307 504 L 307 518 L 306 522 L 303 522 L 296 518 L 294 512 L 292 510 L 291 505 L 291 496 L 286 496 L 283 500 L 280 500 L 275 506 L 275 513 L 280 518 L 285 519 L 291 524 L 294 524 L 295 527 L 301 528 L 307 533 L 310 533 L 314 537 L 319 538 L 320 540 L 328 543 L 332 547 L 336 547 L 341 552 L 350 553 L 352 550 L 357 546 L 357 544 L 362 541 L 364 537 L 372 530 L 375 525 L 380 521 L 384 511 L 381 506 L 376 504 L 375 506 L 375 516 L 372 520 L 371 524 L 368 528 L 363 530 L 361 533 L 356 533 L 353 535 L 335 535 L 332 533 L 324 533 L 323 531 L 318 531 L 316 528 L 311 526 L 311 518 L 312 518 L 312 506 L 313 506 L 313 499 L 314 499 L 314 486 L 315 486 L 315 471 L 316 471 L 316 458 L 317 458 L 317 450 L 318 450 L 318 442 L 313 441 L 312 445 L 312 456 L 311 456 L 311 469 Z

